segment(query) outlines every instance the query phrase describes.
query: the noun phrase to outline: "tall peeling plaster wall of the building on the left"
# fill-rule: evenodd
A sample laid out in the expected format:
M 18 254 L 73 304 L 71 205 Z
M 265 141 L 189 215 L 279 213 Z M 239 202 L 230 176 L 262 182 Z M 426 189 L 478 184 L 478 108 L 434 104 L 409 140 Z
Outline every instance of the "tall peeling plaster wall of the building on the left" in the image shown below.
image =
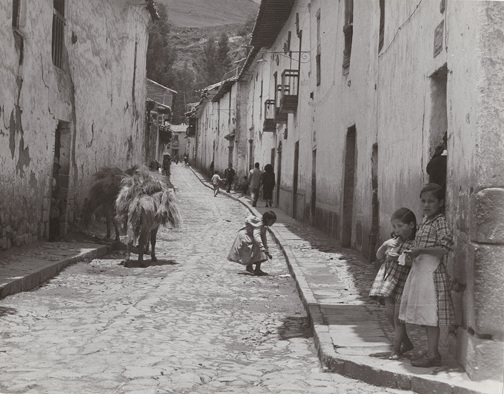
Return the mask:
M 52 2 L 21 5 L 22 64 L 11 7 L 0 5 L 0 247 L 4 249 L 47 238 L 58 120 L 69 122 L 71 134 L 64 232 L 74 225 L 98 168 L 142 161 L 150 20 L 144 8 L 121 1 L 68 1 L 61 70 L 51 58 Z

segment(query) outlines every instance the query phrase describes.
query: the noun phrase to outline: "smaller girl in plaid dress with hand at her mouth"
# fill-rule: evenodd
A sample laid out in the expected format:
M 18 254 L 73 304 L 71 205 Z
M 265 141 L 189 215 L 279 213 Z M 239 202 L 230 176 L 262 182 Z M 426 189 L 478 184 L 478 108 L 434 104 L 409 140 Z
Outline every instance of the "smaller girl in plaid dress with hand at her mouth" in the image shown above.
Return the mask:
M 390 360 L 399 360 L 401 354 L 413 349 L 406 333 L 406 324 L 399 320 L 399 306 L 404 284 L 410 272 L 405 264 L 404 250 L 411 249 L 416 233 L 416 217 L 407 208 L 398 209 L 391 217 L 395 237 L 385 241 L 376 252 L 376 258 L 384 260 L 374 279 L 369 296 L 385 300 L 387 319 L 394 327 L 394 344 Z

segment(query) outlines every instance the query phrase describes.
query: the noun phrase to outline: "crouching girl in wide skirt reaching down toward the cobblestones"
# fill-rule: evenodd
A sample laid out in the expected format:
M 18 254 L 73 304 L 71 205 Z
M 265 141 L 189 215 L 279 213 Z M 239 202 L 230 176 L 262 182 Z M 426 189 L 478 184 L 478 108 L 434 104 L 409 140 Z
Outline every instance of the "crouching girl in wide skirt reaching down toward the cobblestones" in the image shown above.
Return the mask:
M 272 258 L 266 241 L 266 230 L 276 220 L 277 215 L 273 211 L 266 211 L 262 219 L 254 215 L 248 216 L 245 219 L 245 227 L 236 235 L 227 259 L 246 266 L 245 270 L 256 276 L 268 275 L 261 271 L 261 264 Z M 256 265 L 255 270 L 253 264 Z

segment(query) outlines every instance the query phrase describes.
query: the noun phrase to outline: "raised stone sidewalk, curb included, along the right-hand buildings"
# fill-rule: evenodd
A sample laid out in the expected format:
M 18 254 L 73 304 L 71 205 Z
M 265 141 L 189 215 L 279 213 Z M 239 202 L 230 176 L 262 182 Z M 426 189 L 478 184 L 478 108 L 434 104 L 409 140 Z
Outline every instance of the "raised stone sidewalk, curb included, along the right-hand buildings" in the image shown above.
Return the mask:
M 204 185 L 212 188 L 209 179 L 190 168 Z M 222 194 L 239 201 L 257 216 L 272 209 L 253 208 L 249 198 L 237 193 Z M 340 247 L 321 231 L 295 221 L 277 208 L 273 211 L 277 222 L 270 232 L 287 260 L 310 319 L 319 358 L 329 371 L 420 394 L 502 393 L 500 382 L 470 380 L 443 346 L 439 349 L 442 367 L 413 367 L 408 359 L 412 355 L 405 355 L 400 361 L 389 360 L 393 332 L 386 321 L 385 308 L 368 297 L 374 279 L 372 264 L 363 261 L 357 252 Z M 420 327 L 408 325 L 407 329 L 416 346 L 426 347 Z

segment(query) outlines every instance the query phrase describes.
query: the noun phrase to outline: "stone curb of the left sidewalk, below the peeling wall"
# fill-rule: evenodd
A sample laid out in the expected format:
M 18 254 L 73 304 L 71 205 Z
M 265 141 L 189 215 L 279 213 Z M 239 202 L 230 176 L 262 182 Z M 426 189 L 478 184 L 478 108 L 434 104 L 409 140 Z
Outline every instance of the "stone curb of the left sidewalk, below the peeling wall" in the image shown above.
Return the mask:
M 76 256 L 71 256 L 63 258 L 59 261 L 55 261 L 43 266 L 40 270 L 35 272 L 28 272 L 26 276 L 15 276 L 11 281 L 0 285 L 0 299 L 3 299 L 9 295 L 21 293 L 23 291 L 32 290 L 42 283 L 48 281 L 49 279 L 55 277 L 59 272 L 67 268 L 72 264 L 76 264 L 85 259 L 93 259 L 96 257 L 101 257 L 110 251 L 111 247 L 109 245 L 103 245 L 96 249 L 91 249 L 87 252 L 80 253 Z M 7 268 L 9 271 L 9 268 Z M 13 274 L 19 275 L 19 270 L 13 270 Z

